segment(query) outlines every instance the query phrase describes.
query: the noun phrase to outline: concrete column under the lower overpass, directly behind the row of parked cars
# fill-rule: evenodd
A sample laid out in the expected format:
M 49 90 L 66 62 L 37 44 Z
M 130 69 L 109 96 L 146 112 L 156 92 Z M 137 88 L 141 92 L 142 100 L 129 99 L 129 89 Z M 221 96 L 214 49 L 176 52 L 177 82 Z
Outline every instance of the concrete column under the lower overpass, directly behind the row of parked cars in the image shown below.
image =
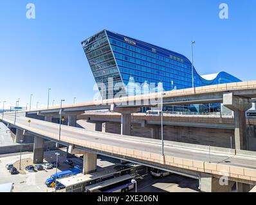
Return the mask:
M 33 163 L 42 163 L 44 161 L 44 138 L 35 136 L 33 147 Z

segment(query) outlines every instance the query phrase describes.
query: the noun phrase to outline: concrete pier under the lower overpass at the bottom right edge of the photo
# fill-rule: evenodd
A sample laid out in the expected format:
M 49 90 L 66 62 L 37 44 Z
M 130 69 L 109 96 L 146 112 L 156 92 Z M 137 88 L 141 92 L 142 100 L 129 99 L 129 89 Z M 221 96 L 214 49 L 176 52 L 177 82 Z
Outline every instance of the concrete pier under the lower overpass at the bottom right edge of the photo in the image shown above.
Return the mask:
M 233 184 L 232 181 L 226 184 L 211 174 L 201 174 L 201 192 L 231 192 Z

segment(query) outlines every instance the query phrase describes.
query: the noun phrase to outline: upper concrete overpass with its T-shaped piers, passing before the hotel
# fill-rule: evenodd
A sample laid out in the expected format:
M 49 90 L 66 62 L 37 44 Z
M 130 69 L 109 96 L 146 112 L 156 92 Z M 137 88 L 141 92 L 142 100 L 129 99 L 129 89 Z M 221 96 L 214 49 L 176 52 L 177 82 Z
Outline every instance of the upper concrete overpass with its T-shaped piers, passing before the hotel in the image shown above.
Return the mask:
M 62 106 L 61 111 L 62 115 L 68 116 L 70 126 L 74 126 L 77 116 L 86 110 L 109 109 L 121 113 L 121 134 L 131 135 L 131 113 L 138 112 L 143 106 L 156 106 L 160 104 L 161 99 L 165 105 L 223 102 L 224 106 L 234 111 L 235 147 L 236 149 L 247 150 L 245 112 L 251 108 L 253 98 L 256 98 L 256 81 L 246 81 L 68 104 Z M 51 117 L 60 112 L 60 106 L 24 112 L 27 117 L 37 115 L 44 117 L 44 120 L 51 121 Z

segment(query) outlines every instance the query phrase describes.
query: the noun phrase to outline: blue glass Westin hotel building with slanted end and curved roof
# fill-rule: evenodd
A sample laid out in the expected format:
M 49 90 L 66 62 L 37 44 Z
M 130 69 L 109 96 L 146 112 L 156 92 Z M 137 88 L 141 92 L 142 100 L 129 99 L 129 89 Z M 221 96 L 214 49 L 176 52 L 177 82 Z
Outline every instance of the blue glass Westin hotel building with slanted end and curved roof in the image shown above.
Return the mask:
M 121 87 L 114 90 L 113 95 L 143 94 L 149 84 L 161 86 L 163 90 L 192 87 L 192 63 L 182 54 L 169 51 L 141 40 L 126 37 L 118 33 L 103 30 L 82 42 L 93 76 L 104 99 L 109 98 L 109 89 L 101 90 L 108 79 L 113 78 L 113 86 L 118 83 Z M 241 81 L 226 73 L 219 72 L 203 78 L 194 72 L 194 86 L 216 85 Z M 129 84 L 140 85 L 142 90 L 131 92 Z M 112 96 L 113 97 L 113 96 Z

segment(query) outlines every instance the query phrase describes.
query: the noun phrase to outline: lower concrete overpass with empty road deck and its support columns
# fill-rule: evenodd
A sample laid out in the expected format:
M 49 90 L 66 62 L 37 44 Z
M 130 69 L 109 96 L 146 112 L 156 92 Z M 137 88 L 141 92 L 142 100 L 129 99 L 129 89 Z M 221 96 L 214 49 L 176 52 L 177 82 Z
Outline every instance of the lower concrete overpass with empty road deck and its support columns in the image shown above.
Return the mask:
M 28 123 L 28 117 L 17 116 L 15 121 L 10 113 L 2 120 L 35 136 L 34 161 L 37 162 L 42 161 L 44 139 L 48 139 L 69 146 L 70 152 L 83 153 L 84 173 L 95 170 L 95 156 L 102 154 L 200 179 L 201 190 L 205 192 L 230 191 L 233 182 L 237 182 L 241 191 L 249 190 L 249 184 L 256 184 L 255 152 L 218 147 L 209 150 L 202 145 L 165 142 L 165 156 L 162 156 L 160 140 L 71 126 L 59 129 L 58 124 L 37 119 Z M 230 183 L 216 183 L 223 177 L 228 177 Z

